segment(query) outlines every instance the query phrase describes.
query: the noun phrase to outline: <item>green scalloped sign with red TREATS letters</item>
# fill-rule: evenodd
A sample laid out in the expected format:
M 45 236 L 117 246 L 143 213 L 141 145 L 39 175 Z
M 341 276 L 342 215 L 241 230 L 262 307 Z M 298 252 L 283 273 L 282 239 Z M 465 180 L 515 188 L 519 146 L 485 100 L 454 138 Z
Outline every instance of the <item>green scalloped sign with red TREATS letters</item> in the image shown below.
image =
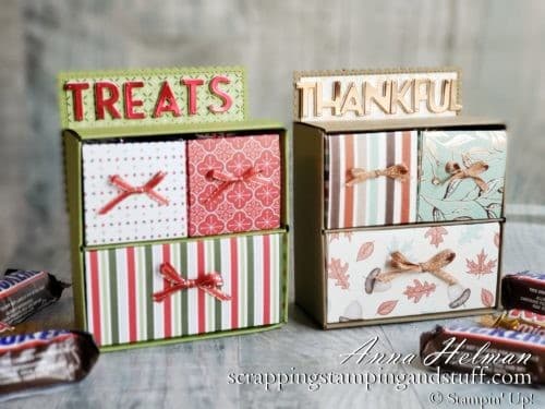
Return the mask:
M 245 119 L 241 68 L 59 75 L 62 128 L 128 128 Z

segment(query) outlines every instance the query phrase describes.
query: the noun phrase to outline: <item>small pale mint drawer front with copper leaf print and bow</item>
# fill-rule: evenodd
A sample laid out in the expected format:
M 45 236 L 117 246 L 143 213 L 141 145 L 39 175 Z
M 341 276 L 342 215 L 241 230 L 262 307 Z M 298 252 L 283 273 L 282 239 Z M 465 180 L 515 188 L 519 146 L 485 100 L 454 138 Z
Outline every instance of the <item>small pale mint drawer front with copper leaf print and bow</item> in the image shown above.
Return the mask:
M 506 132 L 424 131 L 419 221 L 504 216 Z

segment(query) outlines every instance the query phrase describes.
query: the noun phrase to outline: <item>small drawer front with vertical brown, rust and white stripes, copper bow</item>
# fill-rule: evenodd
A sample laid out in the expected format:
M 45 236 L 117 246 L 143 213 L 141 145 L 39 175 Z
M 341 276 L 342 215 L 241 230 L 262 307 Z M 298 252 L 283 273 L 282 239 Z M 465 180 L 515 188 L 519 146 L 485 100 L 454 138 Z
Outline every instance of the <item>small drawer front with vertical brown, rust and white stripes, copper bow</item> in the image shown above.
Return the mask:
M 328 135 L 326 227 L 414 222 L 417 143 L 416 131 Z

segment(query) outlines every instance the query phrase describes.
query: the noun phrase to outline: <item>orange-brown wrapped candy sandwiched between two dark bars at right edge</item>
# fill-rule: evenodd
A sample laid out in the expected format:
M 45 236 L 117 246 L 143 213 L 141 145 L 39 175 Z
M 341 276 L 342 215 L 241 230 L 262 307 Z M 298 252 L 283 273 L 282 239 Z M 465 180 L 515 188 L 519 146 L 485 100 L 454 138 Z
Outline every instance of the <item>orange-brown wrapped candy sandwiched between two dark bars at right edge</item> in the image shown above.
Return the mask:
M 487 327 L 506 328 L 545 337 L 545 315 L 525 310 L 508 310 L 498 316 L 485 315 L 481 324 Z

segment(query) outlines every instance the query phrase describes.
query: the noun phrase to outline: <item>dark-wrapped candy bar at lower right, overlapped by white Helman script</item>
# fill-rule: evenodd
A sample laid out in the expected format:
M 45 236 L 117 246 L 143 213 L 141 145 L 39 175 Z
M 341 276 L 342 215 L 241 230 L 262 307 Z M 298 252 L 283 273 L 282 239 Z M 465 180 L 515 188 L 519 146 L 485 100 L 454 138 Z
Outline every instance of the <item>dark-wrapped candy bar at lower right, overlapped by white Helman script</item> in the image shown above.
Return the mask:
M 420 338 L 426 366 L 447 371 L 518 375 L 520 382 L 545 384 L 545 337 L 504 328 L 437 326 Z

